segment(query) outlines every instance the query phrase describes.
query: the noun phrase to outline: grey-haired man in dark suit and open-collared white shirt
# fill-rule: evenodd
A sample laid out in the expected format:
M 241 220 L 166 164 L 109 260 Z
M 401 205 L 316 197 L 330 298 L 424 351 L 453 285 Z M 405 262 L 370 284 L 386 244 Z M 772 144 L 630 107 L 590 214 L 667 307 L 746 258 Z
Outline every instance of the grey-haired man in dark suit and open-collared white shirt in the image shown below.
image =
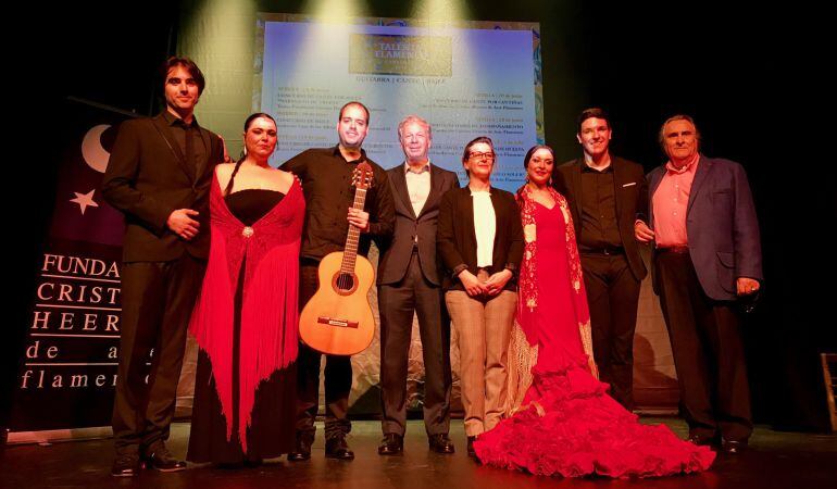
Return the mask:
M 413 314 L 424 356 L 424 427 L 430 450 L 453 453 L 450 427 L 450 321 L 442 304 L 436 261 L 436 222 L 441 196 L 459 188 L 457 174 L 430 164 L 430 125 L 416 115 L 398 125 L 404 163 L 387 171 L 396 211 L 395 234 L 378 265 L 380 311 L 382 455 L 403 450 L 407 365 Z

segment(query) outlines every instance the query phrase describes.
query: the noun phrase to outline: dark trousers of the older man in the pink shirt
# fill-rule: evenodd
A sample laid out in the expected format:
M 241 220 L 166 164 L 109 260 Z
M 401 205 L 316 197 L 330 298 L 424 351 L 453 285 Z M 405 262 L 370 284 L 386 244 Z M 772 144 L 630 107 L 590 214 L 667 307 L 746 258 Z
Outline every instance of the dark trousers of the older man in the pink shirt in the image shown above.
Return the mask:
M 750 390 L 733 303 L 703 293 L 688 253 L 658 251 L 654 268 L 689 435 L 747 440 Z

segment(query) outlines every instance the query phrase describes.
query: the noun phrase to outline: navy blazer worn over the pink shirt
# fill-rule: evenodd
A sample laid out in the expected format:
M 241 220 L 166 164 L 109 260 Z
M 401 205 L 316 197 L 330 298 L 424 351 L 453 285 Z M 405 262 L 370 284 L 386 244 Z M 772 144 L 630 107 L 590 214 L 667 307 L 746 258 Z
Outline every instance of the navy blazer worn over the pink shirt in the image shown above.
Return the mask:
M 650 202 L 665 165 L 648 174 Z M 653 228 L 653 204 L 648 209 Z M 703 292 L 719 301 L 737 299 L 736 279 L 762 280 L 761 240 L 755 205 L 744 167 L 701 154 L 686 208 L 689 255 Z M 659 293 L 657 280 L 654 291 Z

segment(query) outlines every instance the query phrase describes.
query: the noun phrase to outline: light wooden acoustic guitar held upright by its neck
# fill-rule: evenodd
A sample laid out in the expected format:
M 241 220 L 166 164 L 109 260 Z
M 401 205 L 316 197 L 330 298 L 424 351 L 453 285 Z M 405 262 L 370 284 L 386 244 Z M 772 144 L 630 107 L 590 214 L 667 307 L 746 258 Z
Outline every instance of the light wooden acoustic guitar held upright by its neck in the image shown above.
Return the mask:
M 352 175 L 353 209 L 363 210 L 372 181 L 372 166 L 360 163 Z M 368 260 L 358 256 L 360 234 L 360 228 L 350 224 L 343 251 L 328 253 L 320 262 L 320 286 L 299 317 L 300 338 L 323 353 L 353 355 L 365 350 L 375 336 L 375 317 L 367 299 L 375 271 Z

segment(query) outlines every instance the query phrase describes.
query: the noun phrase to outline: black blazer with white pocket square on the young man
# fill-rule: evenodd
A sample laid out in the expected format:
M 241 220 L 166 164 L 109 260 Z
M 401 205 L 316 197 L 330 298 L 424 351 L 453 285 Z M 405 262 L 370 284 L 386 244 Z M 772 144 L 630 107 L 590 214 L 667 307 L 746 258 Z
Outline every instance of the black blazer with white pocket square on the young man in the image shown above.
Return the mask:
M 570 202 L 570 211 L 573 214 L 573 225 L 576 237 L 582 233 L 582 168 L 584 159 L 579 158 L 555 166 L 552 171 L 552 183 L 562 196 Z M 642 166 L 617 156 L 611 156 L 613 167 L 613 181 L 616 185 L 616 225 L 622 238 L 622 247 L 625 249 L 630 273 L 637 280 L 642 280 L 648 271 L 642 256 L 639 254 L 639 244 L 634 237 L 634 222 L 637 211 L 648 205 L 648 187 L 646 185 L 645 170 Z

